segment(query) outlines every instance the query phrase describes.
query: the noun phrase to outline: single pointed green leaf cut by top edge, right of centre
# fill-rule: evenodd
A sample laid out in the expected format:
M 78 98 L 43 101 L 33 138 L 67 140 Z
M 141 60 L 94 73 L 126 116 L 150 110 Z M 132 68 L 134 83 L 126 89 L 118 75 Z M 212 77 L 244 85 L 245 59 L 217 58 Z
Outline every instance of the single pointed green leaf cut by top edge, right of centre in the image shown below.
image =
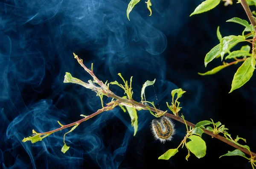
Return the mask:
M 196 7 L 195 11 L 190 14 L 189 16 L 191 17 L 194 14 L 201 14 L 203 12 L 209 11 L 213 8 L 215 8 L 221 0 L 206 0 L 202 2 L 198 7 Z

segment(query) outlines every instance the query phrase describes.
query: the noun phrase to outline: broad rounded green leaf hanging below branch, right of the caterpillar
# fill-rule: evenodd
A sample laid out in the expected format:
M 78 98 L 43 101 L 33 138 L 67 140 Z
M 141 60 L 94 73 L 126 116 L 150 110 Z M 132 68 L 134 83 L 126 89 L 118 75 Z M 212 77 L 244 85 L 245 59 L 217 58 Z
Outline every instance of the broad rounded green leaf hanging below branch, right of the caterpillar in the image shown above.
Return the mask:
M 197 136 L 192 135 L 188 137 L 191 141 L 186 143 L 190 152 L 192 152 L 197 158 L 202 158 L 206 155 L 206 144 L 204 140 Z

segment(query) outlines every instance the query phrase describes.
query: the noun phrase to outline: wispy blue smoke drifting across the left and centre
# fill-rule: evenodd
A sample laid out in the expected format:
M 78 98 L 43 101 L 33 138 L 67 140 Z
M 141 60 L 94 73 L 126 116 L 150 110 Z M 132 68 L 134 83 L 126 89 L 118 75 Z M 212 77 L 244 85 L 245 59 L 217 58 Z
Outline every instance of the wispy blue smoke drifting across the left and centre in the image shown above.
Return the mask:
M 100 108 L 94 93 L 63 83 L 65 72 L 81 80 L 90 78 L 73 59 L 72 52 L 87 66 L 93 62 L 94 72 L 103 81 L 119 80 L 119 72 L 126 79 L 134 76 L 134 97 L 139 100 L 141 85 L 157 78 L 158 101 L 167 99 L 176 86 L 166 80 L 167 65 L 162 54 L 167 46 L 166 35 L 174 36 L 183 24 L 178 20 L 188 6 L 184 2 L 178 2 L 178 6 L 175 1 L 152 2 L 151 17 L 141 2 L 131 12 L 131 21 L 126 17 L 128 2 L 124 0 L 0 2 L 2 167 L 118 168 L 131 140 L 145 142 L 143 126 L 150 125 L 152 118 L 145 112 L 139 115 L 141 137 L 133 137 L 128 115 L 115 109 L 68 134 L 70 150 L 66 154 L 60 150 L 68 130 L 34 144 L 21 140 L 31 135 L 32 129 L 46 132 L 59 127 L 57 120 L 71 123 L 79 120 L 80 114 L 89 115 Z M 111 89 L 122 95 L 115 87 Z M 154 99 L 155 95 L 148 95 L 148 100 Z M 140 157 L 142 147 L 135 150 Z

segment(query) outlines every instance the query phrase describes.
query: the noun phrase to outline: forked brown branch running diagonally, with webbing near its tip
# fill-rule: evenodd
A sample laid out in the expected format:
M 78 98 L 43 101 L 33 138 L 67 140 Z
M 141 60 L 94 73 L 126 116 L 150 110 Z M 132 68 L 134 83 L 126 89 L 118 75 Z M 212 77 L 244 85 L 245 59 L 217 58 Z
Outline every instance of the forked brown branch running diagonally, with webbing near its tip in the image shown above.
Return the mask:
M 83 62 L 82 62 L 82 59 L 79 59 L 79 57 L 74 54 L 75 56 L 75 59 L 78 61 L 78 63 L 85 69 L 85 71 L 87 73 L 90 74 L 90 76 L 93 77 L 93 81 L 89 80 L 88 82 L 89 83 L 85 83 L 75 77 L 72 77 L 71 74 L 69 73 L 66 73 L 65 75 L 65 79 L 64 79 L 64 83 L 76 83 L 76 84 L 79 84 L 79 85 L 82 85 L 84 87 L 86 87 L 87 89 L 91 89 L 92 91 L 96 92 L 98 96 L 100 96 L 101 100 L 102 100 L 102 97 L 103 95 L 107 96 L 107 97 L 111 97 L 112 98 L 112 101 L 110 103 L 107 103 L 106 106 L 104 106 L 102 109 L 99 109 L 97 112 L 91 114 L 91 115 L 88 115 L 88 116 L 84 116 L 84 115 L 81 115 L 81 116 L 84 116 L 84 118 L 82 118 L 81 120 L 78 120 L 76 122 L 73 122 L 73 123 L 70 123 L 70 124 L 67 124 L 67 125 L 62 125 L 61 123 L 59 123 L 61 125 L 61 127 L 59 127 L 58 129 L 54 129 L 52 131 L 49 131 L 49 132 L 42 132 L 42 133 L 37 133 L 33 130 L 33 136 L 32 137 L 26 137 L 24 138 L 22 141 L 23 142 L 26 142 L 26 141 L 31 141 L 32 143 L 35 143 L 37 141 L 41 141 L 44 137 L 47 137 L 49 135 L 51 135 L 52 133 L 54 132 L 58 132 L 62 129 L 66 129 L 66 128 L 69 128 L 71 126 L 78 126 L 80 123 L 96 116 L 96 115 L 99 115 L 100 113 L 102 112 L 106 112 L 106 111 L 109 111 L 109 110 L 112 110 L 114 109 L 116 106 L 128 106 L 128 107 L 131 107 L 133 109 L 137 109 L 137 110 L 149 110 L 151 112 L 155 112 L 155 116 L 156 117 L 160 117 L 160 116 L 167 116 L 167 117 L 170 117 L 174 120 L 177 120 L 183 124 L 186 124 L 187 126 L 190 126 L 192 128 L 195 128 L 195 124 L 194 123 L 191 123 L 187 120 L 184 120 L 182 117 L 180 117 L 178 114 L 175 114 L 175 115 L 172 115 L 170 113 L 168 113 L 167 111 L 163 111 L 163 110 L 160 110 L 160 109 L 156 109 L 155 106 L 148 106 L 147 104 L 143 104 L 143 103 L 139 103 L 135 100 L 133 100 L 132 98 L 124 98 L 124 97 L 119 97 L 117 95 L 115 95 L 110 89 L 109 89 L 109 83 L 103 83 L 101 80 L 99 80 L 95 74 L 93 73 L 93 67 L 92 69 L 88 69 L 86 66 L 84 66 Z M 124 80 L 125 82 L 125 80 Z M 96 86 L 96 84 L 98 86 Z M 126 81 L 126 84 L 128 85 L 127 81 Z M 127 90 L 126 92 L 132 92 L 131 89 L 130 90 Z M 176 101 L 175 101 L 175 104 L 176 104 Z M 72 129 L 71 129 L 72 131 Z M 203 129 L 204 133 L 206 133 L 207 135 L 210 135 L 212 137 L 215 137 L 217 138 L 218 140 L 221 140 L 223 141 L 224 143 L 227 143 L 229 144 L 230 146 L 233 146 L 235 147 L 236 149 L 239 149 L 241 150 L 242 152 L 246 153 L 247 155 L 250 155 L 252 157 L 255 157 L 256 154 L 254 152 L 251 152 L 251 151 L 248 151 L 248 149 L 245 149 L 244 147 L 242 146 L 239 146 L 237 145 L 236 143 L 234 143 L 232 140 L 227 140 L 225 137 L 222 137 L 221 135 L 218 135 L 218 134 L 214 134 L 213 132 L 207 130 L 207 129 Z M 65 144 L 66 145 L 66 144 Z

